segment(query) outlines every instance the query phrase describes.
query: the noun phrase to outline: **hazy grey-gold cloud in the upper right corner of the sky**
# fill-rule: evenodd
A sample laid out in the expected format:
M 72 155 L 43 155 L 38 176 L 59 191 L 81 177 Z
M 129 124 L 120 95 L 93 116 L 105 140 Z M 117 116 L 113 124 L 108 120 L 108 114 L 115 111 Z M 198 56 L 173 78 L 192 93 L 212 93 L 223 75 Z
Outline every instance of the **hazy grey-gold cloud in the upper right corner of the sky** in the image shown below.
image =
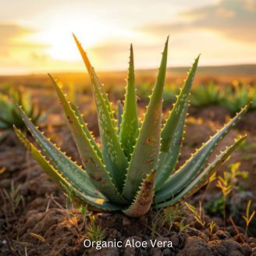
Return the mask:
M 255 43 L 256 1 L 221 0 L 215 5 L 206 5 L 180 13 L 183 22 L 159 23 L 146 26 L 155 34 L 183 33 L 191 30 L 212 30 L 236 41 Z

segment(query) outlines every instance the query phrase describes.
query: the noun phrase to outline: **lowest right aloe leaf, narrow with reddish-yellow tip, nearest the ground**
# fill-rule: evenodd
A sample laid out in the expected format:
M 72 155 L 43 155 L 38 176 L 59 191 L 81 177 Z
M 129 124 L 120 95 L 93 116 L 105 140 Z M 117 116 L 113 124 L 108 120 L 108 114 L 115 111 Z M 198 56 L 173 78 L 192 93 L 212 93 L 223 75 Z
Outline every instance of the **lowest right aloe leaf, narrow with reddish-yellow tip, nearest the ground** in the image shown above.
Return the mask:
M 212 173 L 216 171 L 229 156 L 233 153 L 233 151 L 239 147 L 240 144 L 244 142 L 246 139 L 246 135 L 239 137 L 235 140 L 235 143 L 231 146 L 227 147 L 225 151 L 222 151 L 221 154 L 217 155 L 216 158 L 209 163 L 209 165 L 191 182 L 185 187 L 180 193 L 173 195 L 169 200 L 163 201 L 158 204 L 158 201 L 155 204 L 155 207 L 162 208 L 166 206 L 170 206 L 172 204 L 176 204 L 178 201 L 184 199 L 185 197 L 190 197 L 191 194 L 194 194 L 197 190 L 199 190 L 205 183 L 208 182 L 208 178 L 212 176 Z M 166 188 L 168 190 L 168 188 Z

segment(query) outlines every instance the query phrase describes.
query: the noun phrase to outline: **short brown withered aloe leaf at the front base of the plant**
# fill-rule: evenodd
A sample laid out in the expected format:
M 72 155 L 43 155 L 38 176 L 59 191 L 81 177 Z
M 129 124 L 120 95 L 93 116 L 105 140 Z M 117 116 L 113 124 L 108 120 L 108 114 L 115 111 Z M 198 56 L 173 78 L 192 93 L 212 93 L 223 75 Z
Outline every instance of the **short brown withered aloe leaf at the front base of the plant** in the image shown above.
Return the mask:
M 151 208 L 154 197 L 155 170 L 151 171 L 143 180 L 133 203 L 123 213 L 130 217 L 145 215 Z

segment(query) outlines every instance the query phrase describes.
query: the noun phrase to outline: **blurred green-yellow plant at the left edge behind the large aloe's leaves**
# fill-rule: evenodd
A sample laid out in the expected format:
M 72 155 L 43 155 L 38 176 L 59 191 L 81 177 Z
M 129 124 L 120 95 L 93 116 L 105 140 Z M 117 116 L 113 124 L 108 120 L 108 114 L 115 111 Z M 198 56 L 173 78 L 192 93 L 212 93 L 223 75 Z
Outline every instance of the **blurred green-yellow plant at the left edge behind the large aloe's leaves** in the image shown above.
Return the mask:
M 26 127 L 17 105 L 23 108 L 32 123 L 37 124 L 43 119 L 41 109 L 37 108 L 37 105 L 31 99 L 31 95 L 25 93 L 22 89 L 14 90 L 12 88 L 8 95 L 0 94 L 0 131 L 2 131 L 2 139 L 12 132 L 13 125 L 21 130 Z

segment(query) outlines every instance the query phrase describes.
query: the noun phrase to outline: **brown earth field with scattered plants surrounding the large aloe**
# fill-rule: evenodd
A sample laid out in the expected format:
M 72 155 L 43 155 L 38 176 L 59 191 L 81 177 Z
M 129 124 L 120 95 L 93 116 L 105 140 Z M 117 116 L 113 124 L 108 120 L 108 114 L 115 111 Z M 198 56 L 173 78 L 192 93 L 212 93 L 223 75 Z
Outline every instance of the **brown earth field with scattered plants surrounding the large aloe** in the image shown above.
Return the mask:
M 176 101 L 187 68 L 169 68 L 166 75 L 163 117 Z M 78 209 L 48 178 L 13 132 L 0 144 L 0 251 L 1 255 L 255 255 L 256 254 L 256 66 L 219 66 L 198 69 L 194 80 L 186 123 L 186 135 L 180 155 L 181 166 L 196 148 L 208 140 L 235 115 L 244 104 L 253 101 L 247 115 L 221 141 L 218 154 L 233 143 L 238 134 L 247 140 L 212 176 L 211 183 L 198 190 L 187 202 L 165 210 L 151 211 L 140 219 L 128 219 L 120 213 L 96 214 Z M 96 108 L 87 73 L 56 73 L 69 99 L 80 106 L 88 127 L 100 142 Z M 126 72 L 99 73 L 105 91 L 117 112 L 123 101 Z M 156 70 L 136 72 L 137 104 L 140 119 L 155 84 Z M 59 100 L 47 74 L 0 76 L 0 90 L 21 88 L 47 113 L 39 126 L 48 137 L 80 163 L 76 146 L 66 125 Z M 205 88 L 208 88 L 204 91 Z M 249 93 L 250 91 L 250 93 Z M 2 111 L 2 110 L 1 110 Z M 2 134 L 5 132 L 2 131 Z M 30 137 L 30 134 L 27 133 Z M 214 154 L 214 155 L 215 155 Z M 214 157 L 213 155 L 213 157 Z M 213 158 L 211 158 L 213 159 Z M 210 159 L 210 161 L 211 161 Z M 224 180 L 223 180 L 224 179 Z M 219 184 L 219 185 L 218 185 Z M 222 186 L 220 186 L 220 184 Z M 218 186 L 217 186 L 218 185 Z M 226 193 L 226 194 L 225 194 Z M 251 208 L 247 211 L 249 201 Z M 200 211 L 201 202 L 202 212 Z M 193 211 L 196 212 L 193 212 Z M 252 215 L 251 222 L 247 219 Z M 198 217 L 199 216 L 199 217 Z M 201 225 L 198 218 L 205 222 Z M 91 235 L 92 234 L 92 235 Z M 86 237 L 94 240 L 171 240 L 172 250 L 127 248 L 85 251 Z M 96 237 L 96 238 L 95 238 Z M 101 239 L 100 239 L 101 238 Z

